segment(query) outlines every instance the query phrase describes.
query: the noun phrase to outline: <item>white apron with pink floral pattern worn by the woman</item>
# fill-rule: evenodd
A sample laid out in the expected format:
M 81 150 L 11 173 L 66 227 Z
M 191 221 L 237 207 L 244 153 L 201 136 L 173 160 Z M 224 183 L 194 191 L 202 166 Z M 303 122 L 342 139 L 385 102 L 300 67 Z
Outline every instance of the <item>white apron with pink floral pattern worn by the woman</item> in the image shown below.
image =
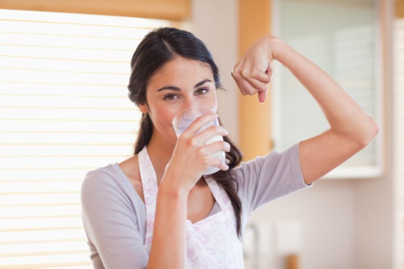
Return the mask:
M 146 205 L 144 246 L 150 253 L 158 193 L 156 172 L 146 145 L 138 154 Z M 244 268 L 242 242 L 237 237 L 236 220 L 227 193 L 213 179 L 206 180 L 221 211 L 192 224 L 186 220 L 187 268 Z

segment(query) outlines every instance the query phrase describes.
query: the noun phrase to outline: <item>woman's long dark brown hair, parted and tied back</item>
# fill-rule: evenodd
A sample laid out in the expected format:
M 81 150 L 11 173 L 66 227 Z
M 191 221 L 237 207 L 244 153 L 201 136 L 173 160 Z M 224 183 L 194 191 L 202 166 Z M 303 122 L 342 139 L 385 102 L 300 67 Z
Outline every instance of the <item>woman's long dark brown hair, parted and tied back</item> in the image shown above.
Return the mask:
M 150 78 L 164 64 L 178 56 L 209 64 L 212 69 L 216 89 L 224 90 L 221 85 L 219 69 L 204 42 L 188 31 L 164 27 L 149 32 L 133 53 L 128 85 L 129 99 L 136 105 L 145 103 L 148 106 L 146 88 Z M 222 125 L 220 118 L 218 120 L 219 124 Z M 134 154 L 139 153 L 144 145 L 149 143 L 152 134 L 153 122 L 148 113 L 142 114 Z M 237 175 L 232 169 L 238 166 L 243 155 L 228 136 L 224 136 L 223 140 L 227 141 L 231 146 L 230 152 L 225 152 L 226 159 L 229 160 L 229 169 L 226 171 L 219 170 L 209 175 L 209 177 L 221 185 L 228 194 L 236 218 L 237 235 L 241 239 L 242 206 L 237 194 L 239 182 L 237 181 Z

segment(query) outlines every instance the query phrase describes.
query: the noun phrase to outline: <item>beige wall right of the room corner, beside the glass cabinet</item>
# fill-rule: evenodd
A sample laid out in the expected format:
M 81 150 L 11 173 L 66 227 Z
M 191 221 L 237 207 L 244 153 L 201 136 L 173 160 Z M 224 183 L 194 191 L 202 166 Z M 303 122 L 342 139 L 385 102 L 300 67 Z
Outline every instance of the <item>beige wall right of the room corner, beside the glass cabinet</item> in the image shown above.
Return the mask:
M 393 2 L 379 1 L 378 12 L 382 25 L 382 72 L 384 80 L 384 167 L 385 175 L 380 179 L 363 179 L 354 183 L 354 250 L 355 269 L 393 268 L 394 244 L 394 179 L 391 144 L 393 128 L 392 115 L 392 42 L 391 20 Z M 401 253 L 402 255 L 402 253 Z

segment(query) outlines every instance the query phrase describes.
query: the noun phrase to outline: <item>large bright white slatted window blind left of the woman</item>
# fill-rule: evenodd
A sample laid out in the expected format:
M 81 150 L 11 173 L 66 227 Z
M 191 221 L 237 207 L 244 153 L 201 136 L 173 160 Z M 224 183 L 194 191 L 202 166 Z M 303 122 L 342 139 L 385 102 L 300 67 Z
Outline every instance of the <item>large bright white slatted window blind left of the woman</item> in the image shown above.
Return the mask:
M 91 268 L 89 170 L 133 154 L 130 60 L 171 22 L 0 10 L 0 267 Z

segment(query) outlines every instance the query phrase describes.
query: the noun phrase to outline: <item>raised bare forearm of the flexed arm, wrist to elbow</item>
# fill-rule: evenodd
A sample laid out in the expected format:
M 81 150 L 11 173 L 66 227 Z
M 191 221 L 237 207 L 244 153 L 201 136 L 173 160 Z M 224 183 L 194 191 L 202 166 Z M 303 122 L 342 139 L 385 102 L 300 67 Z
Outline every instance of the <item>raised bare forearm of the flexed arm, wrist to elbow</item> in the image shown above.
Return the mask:
M 326 72 L 279 38 L 268 36 L 275 60 L 288 69 L 320 105 L 330 130 L 362 143 L 378 132 L 377 122 Z

